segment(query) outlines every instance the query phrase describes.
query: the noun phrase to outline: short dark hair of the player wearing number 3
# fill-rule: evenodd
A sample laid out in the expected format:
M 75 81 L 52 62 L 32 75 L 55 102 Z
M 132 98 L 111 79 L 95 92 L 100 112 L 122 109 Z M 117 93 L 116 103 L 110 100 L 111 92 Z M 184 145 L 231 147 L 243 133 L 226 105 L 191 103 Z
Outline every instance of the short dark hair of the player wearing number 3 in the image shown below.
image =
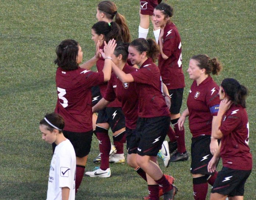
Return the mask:
M 78 68 L 78 42 L 75 40 L 63 40 L 56 48 L 57 58 L 54 63 L 63 70 L 76 70 Z

